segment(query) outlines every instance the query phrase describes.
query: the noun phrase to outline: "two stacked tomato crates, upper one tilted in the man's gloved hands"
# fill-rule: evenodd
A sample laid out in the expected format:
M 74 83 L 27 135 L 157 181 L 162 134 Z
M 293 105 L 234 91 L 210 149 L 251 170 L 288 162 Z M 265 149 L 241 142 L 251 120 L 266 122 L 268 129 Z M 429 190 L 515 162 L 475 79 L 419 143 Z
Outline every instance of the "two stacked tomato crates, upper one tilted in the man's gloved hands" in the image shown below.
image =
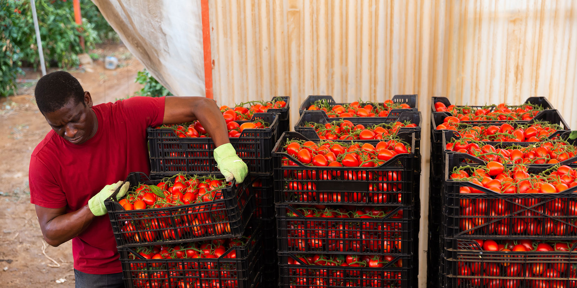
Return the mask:
M 126 287 L 256 287 L 262 230 L 252 183 L 222 175 L 149 180 L 131 173 L 108 210 Z

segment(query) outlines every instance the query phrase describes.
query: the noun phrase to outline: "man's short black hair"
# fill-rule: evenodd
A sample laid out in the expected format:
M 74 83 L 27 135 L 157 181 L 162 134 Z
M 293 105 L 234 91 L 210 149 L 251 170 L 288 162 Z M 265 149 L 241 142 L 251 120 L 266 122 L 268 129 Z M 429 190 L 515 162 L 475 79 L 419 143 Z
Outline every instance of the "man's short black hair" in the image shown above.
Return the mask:
M 70 98 L 84 103 L 84 89 L 74 76 L 66 71 L 44 75 L 34 89 L 34 97 L 40 112 L 50 113 L 62 108 Z

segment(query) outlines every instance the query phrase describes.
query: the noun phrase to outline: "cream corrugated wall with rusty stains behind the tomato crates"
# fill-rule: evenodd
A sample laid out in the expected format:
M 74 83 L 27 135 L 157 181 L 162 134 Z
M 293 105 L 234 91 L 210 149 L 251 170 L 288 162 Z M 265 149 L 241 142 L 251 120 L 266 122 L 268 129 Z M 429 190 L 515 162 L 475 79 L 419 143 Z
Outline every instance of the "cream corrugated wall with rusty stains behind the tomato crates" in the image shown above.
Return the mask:
M 291 96 L 294 123 L 309 94 L 346 102 L 417 93 L 428 139 L 430 96 L 455 104 L 546 96 L 577 127 L 577 1 L 235 0 L 209 8 L 219 104 Z M 421 182 L 427 199 L 426 169 Z M 426 241 L 426 205 L 421 213 Z

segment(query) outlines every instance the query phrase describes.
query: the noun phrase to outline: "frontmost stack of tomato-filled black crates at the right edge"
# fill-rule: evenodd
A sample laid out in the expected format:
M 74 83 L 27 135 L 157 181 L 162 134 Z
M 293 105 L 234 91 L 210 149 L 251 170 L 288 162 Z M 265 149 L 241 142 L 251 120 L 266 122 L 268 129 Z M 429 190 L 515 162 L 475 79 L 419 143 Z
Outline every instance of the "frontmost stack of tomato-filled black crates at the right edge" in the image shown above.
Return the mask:
M 445 157 L 445 288 L 577 285 L 576 164 Z

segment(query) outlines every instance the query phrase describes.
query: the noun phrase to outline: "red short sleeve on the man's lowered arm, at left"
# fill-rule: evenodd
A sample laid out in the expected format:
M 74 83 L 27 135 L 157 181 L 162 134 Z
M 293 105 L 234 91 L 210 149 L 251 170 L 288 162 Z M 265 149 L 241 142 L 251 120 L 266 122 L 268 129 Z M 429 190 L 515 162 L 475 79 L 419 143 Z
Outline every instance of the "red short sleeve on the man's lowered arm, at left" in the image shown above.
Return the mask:
M 62 208 L 68 204 L 64 191 L 50 170 L 35 156 L 30 158 L 28 182 L 30 185 L 30 203 L 51 209 Z

